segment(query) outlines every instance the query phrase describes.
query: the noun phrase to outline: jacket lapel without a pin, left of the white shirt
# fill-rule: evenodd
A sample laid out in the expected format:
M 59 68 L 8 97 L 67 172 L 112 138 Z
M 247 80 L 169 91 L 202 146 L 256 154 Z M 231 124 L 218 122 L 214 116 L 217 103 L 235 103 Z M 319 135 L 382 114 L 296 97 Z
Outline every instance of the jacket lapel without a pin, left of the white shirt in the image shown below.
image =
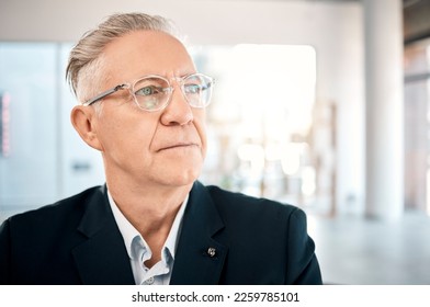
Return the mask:
M 134 284 L 128 254 L 109 206 L 105 186 L 89 202 L 78 227 L 87 240 L 72 251 L 82 283 Z

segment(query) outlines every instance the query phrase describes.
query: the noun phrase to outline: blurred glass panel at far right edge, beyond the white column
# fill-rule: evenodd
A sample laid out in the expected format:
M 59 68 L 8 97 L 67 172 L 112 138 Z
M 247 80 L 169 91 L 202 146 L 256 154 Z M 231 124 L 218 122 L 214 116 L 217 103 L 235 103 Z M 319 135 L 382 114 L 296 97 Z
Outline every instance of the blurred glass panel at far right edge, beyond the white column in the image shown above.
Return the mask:
M 405 205 L 430 212 L 430 39 L 405 48 Z

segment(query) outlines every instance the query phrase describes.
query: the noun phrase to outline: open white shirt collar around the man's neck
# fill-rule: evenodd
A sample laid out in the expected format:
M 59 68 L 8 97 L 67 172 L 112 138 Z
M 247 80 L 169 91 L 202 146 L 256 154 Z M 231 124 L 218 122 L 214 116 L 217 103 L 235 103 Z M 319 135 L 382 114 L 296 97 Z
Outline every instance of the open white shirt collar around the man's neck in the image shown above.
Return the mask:
M 137 229 L 128 221 L 128 219 L 120 211 L 120 208 L 117 207 L 117 205 L 116 205 L 115 201 L 113 200 L 109 190 L 108 190 L 108 198 L 109 198 L 109 204 L 112 208 L 112 213 L 115 218 L 116 225 L 118 226 L 120 232 L 123 236 L 128 257 L 131 259 L 135 258 L 132 247 L 133 247 L 133 239 L 136 237 L 140 238 L 145 248 L 148 251 L 150 251 L 147 242 L 140 236 L 139 231 L 137 231 Z M 168 262 L 170 257 L 174 260 L 174 252 L 177 250 L 177 242 L 178 242 L 178 238 L 179 238 L 179 235 L 181 231 L 182 217 L 183 217 L 183 213 L 185 211 L 186 204 L 188 204 L 188 200 L 189 200 L 189 195 L 186 195 L 181 207 L 179 208 L 178 214 L 174 217 L 172 227 L 170 228 L 170 232 L 166 239 L 165 245 L 162 246 L 161 260 L 163 262 Z

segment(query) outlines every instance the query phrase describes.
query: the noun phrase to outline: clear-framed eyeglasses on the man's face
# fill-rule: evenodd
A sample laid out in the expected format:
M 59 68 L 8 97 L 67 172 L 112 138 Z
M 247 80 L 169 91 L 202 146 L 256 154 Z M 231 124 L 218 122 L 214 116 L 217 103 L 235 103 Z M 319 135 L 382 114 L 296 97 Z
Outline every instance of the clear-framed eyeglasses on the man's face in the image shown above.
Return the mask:
M 185 77 L 174 77 L 181 88 L 186 102 L 192 107 L 203 109 L 211 103 L 214 79 L 203 73 L 193 73 Z M 150 75 L 143 77 L 133 83 L 118 84 L 108 91 L 84 102 L 83 105 L 91 105 L 103 98 L 121 90 L 128 90 L 138 107 L 149 112 L 165 109 L 173 93 L 173 86 L 165 77 Z

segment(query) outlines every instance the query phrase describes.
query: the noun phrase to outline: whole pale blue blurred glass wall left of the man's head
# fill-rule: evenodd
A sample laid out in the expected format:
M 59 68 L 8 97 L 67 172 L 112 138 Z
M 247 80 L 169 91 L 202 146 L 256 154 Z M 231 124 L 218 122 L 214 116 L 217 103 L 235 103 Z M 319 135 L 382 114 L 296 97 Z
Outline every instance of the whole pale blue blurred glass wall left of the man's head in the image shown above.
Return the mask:
M 8 155 L 0 155 L 0 220 L 103 184 L 100 152 L 70 123 L 65 70 L 71 44 L 0 43 Z

